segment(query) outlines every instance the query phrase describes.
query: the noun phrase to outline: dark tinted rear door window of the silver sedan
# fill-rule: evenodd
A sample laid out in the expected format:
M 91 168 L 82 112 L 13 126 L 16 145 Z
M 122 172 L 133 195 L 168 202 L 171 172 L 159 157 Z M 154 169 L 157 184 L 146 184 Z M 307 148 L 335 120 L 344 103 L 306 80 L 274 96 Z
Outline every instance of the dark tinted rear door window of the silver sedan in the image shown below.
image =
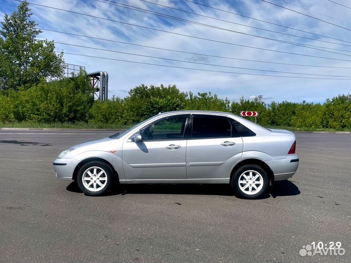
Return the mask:
M 226 117 L 194 116 L 192 138 L 232 137 L 232 125 Z

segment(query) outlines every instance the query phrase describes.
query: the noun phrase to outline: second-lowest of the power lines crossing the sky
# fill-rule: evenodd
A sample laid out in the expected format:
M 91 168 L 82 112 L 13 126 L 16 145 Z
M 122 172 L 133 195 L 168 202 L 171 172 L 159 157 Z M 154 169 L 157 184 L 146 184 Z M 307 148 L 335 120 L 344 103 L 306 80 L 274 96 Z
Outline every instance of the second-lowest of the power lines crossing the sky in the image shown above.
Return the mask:
M 40 40 L 40 39 L 37 39 L 37 40 Z M 40 41 L 43 41 L 43 40 L 40 40 Z M 141 54 L 135 54 L 135 53 L 129 53 L 129 52 L 122 52 L 122 51 L 111 50 L 111 49 L 96 48 L 96 47 L 87 47 L 87 46 L 76 45 L 76 44 L 69 44 L 69 43 L 63 43 L 63 42 L 56 42 L 56 43 L 57 43 L 57 44 L 62 44 L 62 45 L 80 47 L 80 48 L 89 48 L 89 49 L 94 49 L 94 50 L 101 50 L 101 51 L 107 51 L 107 52 L 114 52 L 114 53 L 125 54 L 125 55 L 142 56 L 142 57 L 149 57 L 149 58 L 170 60 L 170 61 L 176 61 L 176 62 L 191 63 L 191 64 L 197 64 L 197 65 L 215 66 L 215 67 L 232 68 L 232 69 L 244 69 L 244 70 L 253 70 L 253 71 L 264 71 L 264 72 L 273 72 L 273 73 L 285 73 L 285 74 L 294 74 L 294 75 L 312 75 L 312 76 L 328 76 L 328 77 L 347 77 L 347 78 L 351 78 L 351 76 L 341 76 L 341 75 L 307 74 L 307 73 L 296 73 L 296 72 L 286 72 L 286 71 L 275 71 L 275 70 L 263 70 L 263 69 L 253 69 L 253 68 L 243 68 L 243 67 L 225 66 L 225 65 L 218 65 L 218 64 L 210 64 L 210 63 L 203 63 L 203 62 L 195 62 L 195 61 L 187 61 L 187 60 L 173 59 L 173 58 L 167 58 L 167 57 L 141 55 Z

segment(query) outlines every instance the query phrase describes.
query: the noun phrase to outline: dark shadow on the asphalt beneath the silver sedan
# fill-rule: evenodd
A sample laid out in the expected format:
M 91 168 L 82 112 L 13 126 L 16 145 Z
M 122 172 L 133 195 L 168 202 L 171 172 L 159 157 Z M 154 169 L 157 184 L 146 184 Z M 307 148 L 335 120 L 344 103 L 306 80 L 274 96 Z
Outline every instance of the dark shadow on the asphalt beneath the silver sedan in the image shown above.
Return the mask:
M 72 182 L 66 188 L 68 191 L 82 193 L 76 182 Z M 107 191 L 104 196 L 126 194 L 188 194 L 188 195 L 222 195 L 234 196 L 230 185 L 226 184 L 174 184 L 174 185 L 118 185 Z M 289 180 L 275 182 L 266 194 L 258 199 L 276 198 L 277 196 L 292 196 L 300 194 L 298 187 Z

